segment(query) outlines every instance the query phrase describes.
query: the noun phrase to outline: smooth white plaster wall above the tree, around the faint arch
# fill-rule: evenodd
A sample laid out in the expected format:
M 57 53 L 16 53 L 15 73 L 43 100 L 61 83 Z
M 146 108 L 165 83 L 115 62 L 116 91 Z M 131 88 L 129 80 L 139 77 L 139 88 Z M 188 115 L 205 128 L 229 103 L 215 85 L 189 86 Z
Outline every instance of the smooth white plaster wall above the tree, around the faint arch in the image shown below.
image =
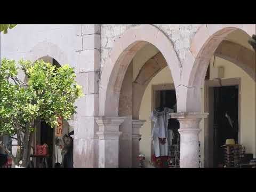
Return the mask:
M 1 58 L 19 60 L 25 58 L 38 43 L 50 42 L 63 52 L 66 63 L 76 67 L 75 51 L 80 44 L 82 47 L 82 40 L 77 37 L 79 28 L 81 25 L 17 25 L 7 34 L 1 33 Z M 38 58 L 43 56 L 46 55 L 38 54 Z

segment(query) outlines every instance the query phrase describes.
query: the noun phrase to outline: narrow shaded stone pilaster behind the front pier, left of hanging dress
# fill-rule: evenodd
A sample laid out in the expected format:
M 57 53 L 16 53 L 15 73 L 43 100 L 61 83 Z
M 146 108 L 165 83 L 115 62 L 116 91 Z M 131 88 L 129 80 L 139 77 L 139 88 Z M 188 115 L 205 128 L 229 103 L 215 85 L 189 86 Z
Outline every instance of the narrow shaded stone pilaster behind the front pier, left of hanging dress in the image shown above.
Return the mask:
M 137 157 L 140 154 L 140 128 L 146 120 L 132 120 L 132 167 L 138 167 Z

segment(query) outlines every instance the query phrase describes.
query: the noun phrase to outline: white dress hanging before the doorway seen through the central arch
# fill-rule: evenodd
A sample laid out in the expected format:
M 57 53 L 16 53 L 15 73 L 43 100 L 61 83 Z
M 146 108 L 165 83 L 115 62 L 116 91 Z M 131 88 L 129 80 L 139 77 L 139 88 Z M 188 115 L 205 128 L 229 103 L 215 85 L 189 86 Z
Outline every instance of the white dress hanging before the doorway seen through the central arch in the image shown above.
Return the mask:
M 153 147 L 156 157 L 168 155 L 168 120 L 173 109 L 165 107 L 163 111 L 156 109 L 151 113 L 151 120 L 154 122 L 151 138 L 153 139 Z M 160 138 L 160 139 L 159 139 Z M 160 142 L 160 141 L 161 142 Z

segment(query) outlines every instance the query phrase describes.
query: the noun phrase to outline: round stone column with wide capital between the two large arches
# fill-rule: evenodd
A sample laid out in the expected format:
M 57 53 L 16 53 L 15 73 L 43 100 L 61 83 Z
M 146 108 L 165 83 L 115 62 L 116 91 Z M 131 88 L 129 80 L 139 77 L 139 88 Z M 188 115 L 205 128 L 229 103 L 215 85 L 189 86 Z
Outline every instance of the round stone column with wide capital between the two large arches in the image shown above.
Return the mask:
M 171 113 L 172 118 L 177 118 L 180 122 L 180 168 L 198 168 L 198 134 L 199 123 L 202 118 L 206 118 L 209 113 Z

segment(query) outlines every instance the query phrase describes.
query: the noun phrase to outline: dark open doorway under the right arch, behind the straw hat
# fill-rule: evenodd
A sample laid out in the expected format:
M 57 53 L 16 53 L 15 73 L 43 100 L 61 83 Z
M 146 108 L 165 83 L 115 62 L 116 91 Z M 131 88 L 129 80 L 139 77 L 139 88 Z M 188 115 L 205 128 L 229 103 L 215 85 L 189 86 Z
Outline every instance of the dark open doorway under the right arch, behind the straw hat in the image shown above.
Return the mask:
M 214 87 L 213 118 L 213 165 L 223 163 L 226 139 L 238 143 L 238 85 Z

